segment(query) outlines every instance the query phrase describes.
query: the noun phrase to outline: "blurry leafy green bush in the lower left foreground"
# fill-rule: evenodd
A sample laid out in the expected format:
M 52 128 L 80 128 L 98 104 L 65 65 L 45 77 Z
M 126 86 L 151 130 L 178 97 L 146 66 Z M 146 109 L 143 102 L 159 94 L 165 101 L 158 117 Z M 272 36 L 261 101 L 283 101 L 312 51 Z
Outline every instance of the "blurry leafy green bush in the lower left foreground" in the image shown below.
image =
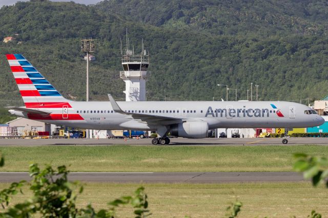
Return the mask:
M 1 166 L 1 165 L 0 165 Z M 91 204 L 84 208 L 76 207 L 78 194 L 83 192 L 83 186 L 79 182 L 70 182 L 66 166 L 58 166 L 56 169 L 50 165 L 40 169 L 37 164 L 29 167 L 32 181 L 14 182 L 9 188 L 0 191 L 0 204 L 3 211 L 0 217 L 93 217 L 113 218 L 115 210 L 120 205 L 131 205 L 134 208 L 136 218 L 144 218 L 150 215 L 147 194 L 144 187 L 138 188 L 134 195 L 121 197 L 109 202 L 109 209 L 96 211 Z M 22 192 L 22 186 L 28 185 L 32 191 L 32 198 L 22 203 L 9 205 L 12 196 L 18 191 Z M 78 190 L 76 190 L 78 189 Z

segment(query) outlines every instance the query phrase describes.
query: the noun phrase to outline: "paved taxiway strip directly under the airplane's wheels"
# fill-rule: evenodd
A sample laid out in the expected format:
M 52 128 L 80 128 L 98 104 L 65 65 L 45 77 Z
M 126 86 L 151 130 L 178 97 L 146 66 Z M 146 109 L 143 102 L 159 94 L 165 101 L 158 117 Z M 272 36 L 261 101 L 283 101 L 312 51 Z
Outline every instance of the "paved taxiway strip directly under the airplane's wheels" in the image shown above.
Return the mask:
M 39 145 L 282 145 L 281 138 L 172 138 L 169 145 L 152 145 L 151 139 L 0 139 L 0 146 L 39 146 Z M 328 145 L 328 138 L 289 138 L 287 145 L 318 144 Z

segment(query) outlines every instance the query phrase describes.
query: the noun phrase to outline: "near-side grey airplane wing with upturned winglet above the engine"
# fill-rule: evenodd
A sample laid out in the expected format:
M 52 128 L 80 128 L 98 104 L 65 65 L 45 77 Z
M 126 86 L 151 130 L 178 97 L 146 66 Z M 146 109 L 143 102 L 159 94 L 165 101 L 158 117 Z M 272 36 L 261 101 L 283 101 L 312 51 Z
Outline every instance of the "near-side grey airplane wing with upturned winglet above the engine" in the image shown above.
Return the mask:
M 114 100 L 112 95 L 108 94 L 108 98 L 109 98 L 109 101 L 112 104 L 113 110 L 116 113 L 129 115 L 133 119 L 140 120 L 140 122 L 154 123 L 154 124 L 160 124 L 160 125 L 171 125 L 171 124 L 176 124 L 176 123 L 182 123 L 183 122 L 183 120 L 181 118 L 125 112 L 118 106 L 118 104 L 116 103 L 116 101 Z

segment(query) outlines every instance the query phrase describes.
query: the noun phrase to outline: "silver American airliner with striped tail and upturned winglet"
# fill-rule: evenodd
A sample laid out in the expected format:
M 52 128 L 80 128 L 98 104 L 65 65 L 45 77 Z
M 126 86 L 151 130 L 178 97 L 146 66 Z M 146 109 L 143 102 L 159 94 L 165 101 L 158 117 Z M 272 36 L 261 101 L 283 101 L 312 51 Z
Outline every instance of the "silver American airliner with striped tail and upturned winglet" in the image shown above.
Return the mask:
M 87 129 L 156 130 L 152 144 L 171 136 L 207 138 L 215 128 L 312 127 L 324 123 L 311 107 L 288 101 L 72 101 L 64 98 L 22 54 L 7 59 L 25 106 L 8 107 L 18 117 Z M 288 143 L 286 138 L 282 143 Z

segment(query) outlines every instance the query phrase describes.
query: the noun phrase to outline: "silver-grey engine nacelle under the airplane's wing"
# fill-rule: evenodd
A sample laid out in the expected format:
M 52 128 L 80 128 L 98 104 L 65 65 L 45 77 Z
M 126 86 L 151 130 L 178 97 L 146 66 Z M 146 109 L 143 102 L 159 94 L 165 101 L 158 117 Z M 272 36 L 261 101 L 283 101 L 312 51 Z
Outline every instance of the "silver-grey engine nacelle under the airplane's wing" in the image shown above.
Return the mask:
M 171 135 L 189 139 L 203 139 L 208 137 L 209 124 L 195 121 L 174 124 L 171 126 Z

